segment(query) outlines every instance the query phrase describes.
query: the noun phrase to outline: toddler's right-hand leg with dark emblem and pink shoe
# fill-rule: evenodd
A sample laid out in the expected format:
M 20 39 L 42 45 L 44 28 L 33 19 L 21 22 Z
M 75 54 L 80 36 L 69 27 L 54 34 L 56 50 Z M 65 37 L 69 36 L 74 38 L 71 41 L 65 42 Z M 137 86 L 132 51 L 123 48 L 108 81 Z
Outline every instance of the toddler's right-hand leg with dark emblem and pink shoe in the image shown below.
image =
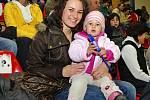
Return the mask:
M 99 85 L 98 85 L 99 84 Z M 96 85 L 101 87 L 101 91 L 104 93 L 106 100 L 115 100 L 117 96 L 122 95 L 122 91 L 116 84 L 109 79 L 109 77 L 104 76 L 96 81 Z M 126 99 L 121 99 L 126 100 Z

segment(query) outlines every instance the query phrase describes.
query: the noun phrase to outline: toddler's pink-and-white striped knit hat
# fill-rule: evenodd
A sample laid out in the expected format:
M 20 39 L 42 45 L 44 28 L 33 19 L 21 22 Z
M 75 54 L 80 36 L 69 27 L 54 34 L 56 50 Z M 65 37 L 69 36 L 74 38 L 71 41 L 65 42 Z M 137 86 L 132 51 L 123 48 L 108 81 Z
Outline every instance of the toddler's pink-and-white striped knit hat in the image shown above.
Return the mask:
M 102 32 L 104 32 L 104 30 L 105 30 L 105 18 L 104 18 L 104 15 L 99 11 L 91 11 L 87 14 L 87 16 L 85 17 L 85 20 L 84 20 L 83 30 L 85 31 L 86 24 L 89 21 L 94 20 L 94 19 L 96 19 L 97 21 L 100 22 L 100 24 L 102 26 Z

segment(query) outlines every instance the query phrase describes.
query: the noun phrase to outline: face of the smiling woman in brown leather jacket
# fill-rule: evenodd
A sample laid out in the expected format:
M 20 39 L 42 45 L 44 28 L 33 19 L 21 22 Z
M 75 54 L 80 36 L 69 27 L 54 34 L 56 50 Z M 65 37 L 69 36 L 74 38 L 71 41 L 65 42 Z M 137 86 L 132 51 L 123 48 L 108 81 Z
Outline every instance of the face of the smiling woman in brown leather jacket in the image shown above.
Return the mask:
M 75 27 L 82 18 L 83 4 L 80 0 L 68 0 L 62 14 L 62 22 L 67 27 Z

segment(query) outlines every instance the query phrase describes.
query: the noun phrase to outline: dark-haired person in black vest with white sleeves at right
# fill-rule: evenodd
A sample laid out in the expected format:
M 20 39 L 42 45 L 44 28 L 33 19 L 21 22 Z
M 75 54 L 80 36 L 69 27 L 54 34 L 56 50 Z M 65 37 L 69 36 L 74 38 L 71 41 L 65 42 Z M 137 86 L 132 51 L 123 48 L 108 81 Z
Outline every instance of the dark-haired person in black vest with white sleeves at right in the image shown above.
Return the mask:
M 144 57 L 144 49 L 141 45 L 144 43 L 145 36 L 149 28 L 140 22 L 132 23 L 127 30 L 128 36 L 123 41 L 119 60 L 119 71 L 121 80 L 132 83 L 136 91 L 141 93 L 150 81 L 148 66 Z

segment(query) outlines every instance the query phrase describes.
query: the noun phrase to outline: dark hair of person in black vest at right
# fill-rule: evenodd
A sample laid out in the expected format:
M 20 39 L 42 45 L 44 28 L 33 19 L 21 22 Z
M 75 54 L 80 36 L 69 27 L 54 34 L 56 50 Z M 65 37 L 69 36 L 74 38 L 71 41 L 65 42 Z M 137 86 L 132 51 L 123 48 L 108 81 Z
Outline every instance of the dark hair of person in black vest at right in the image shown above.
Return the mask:
M 141 36 L 145 32 L 149 32 L 149 27 L 141 22 L 130 23 L 127 34 L 134 38 L 136 42 L 138 42 L 138 36 Z

